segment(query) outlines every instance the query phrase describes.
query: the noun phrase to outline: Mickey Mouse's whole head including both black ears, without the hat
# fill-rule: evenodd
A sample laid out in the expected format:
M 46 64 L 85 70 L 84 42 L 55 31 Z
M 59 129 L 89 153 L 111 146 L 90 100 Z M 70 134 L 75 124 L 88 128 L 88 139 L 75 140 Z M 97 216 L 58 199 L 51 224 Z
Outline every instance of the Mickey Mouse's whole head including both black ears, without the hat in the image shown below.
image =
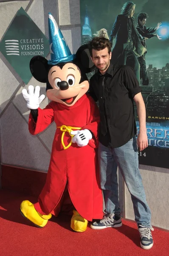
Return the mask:
M 94 68 L 87 44 L 79 47 L 76 60 L 72 62 L 51 66 L 42 56 L 34 56 L 30 61 L 32 76 L 47 84 L 48 98 L 67 106 L 73 106 L 87 92 L 89 82 L 86 73 Z

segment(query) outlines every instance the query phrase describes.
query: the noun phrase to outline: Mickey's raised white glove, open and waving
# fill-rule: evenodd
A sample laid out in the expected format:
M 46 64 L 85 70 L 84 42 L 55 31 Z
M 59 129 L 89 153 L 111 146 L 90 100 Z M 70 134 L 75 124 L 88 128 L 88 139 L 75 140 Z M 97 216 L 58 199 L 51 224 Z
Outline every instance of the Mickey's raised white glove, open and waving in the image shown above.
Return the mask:
M 42 102 L 43 99 L 45 99 L 45 95 L 42 94 L 39 97 L 39 93 L 40 93 L 40 87 L 36 86 L 35 87 L 35 92 L 34 92 L 34 86 L 33 85 L 29 85 L 28 87 L 28 92 L 26 89 L 22 90 L 23 93 L 23 97 L 24 99 L 27 101 L 27 107 L 30 109 L 37 109 L 39 108 L 39 104 Z

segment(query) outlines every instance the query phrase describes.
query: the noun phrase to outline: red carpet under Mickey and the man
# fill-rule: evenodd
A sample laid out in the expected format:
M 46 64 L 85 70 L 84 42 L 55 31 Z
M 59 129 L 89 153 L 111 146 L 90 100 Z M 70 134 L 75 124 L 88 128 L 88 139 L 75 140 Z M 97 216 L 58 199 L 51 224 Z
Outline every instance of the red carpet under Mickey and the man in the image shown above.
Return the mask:
M 169 233 L 155 229 L 154 246 L 140 247 L 136 224 L 84 233 L 70 229 L 68 216 L 52 217 L 46 227 L 34 227 L 20 214 L 21 201 L 36 198 L 0 190 L 0 256 L 167 256 Z

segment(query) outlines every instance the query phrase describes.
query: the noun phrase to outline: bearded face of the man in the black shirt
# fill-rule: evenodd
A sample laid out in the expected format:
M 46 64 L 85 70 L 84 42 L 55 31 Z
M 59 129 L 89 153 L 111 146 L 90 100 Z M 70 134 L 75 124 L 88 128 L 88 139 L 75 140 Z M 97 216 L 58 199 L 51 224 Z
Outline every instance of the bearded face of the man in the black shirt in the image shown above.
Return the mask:
M 95 50 L 92 49 L 92 61 L 95 64 L 95 66 L 100 70 L 100 71 L 105 71 L 109 67 L 110 64 L 110 59 L 112 57 L 112 53 L 108 52 L 108 48 L 106 47 L 103 50 Z

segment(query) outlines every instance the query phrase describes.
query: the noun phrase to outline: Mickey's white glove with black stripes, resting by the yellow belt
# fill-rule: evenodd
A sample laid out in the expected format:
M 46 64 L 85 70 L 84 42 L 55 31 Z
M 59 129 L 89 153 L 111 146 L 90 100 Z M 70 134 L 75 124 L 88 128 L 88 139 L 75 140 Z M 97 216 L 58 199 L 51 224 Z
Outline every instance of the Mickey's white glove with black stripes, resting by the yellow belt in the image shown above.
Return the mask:
M 71 131 L 71 135 L 75 135 L 72 137 L 72 142 L 77 143 L 79 147 L 84 147 L 89 143 L 89 140 L 92 139 L 92 134 L 89 130 L 77 130 L 77 131 Z

